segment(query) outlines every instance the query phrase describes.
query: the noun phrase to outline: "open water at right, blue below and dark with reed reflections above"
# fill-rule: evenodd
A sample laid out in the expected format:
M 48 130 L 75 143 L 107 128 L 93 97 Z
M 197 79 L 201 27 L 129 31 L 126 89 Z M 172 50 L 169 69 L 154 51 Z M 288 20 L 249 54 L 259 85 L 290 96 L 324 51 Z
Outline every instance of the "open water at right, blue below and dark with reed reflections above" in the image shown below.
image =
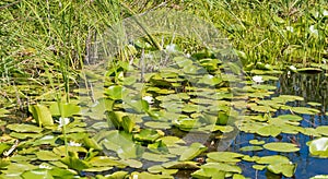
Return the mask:
M 307 103 L 315 102 L 321 104 L 321 106 L 313 107 L 319 109 L 321 114 L 317 116 L 302 115 L 302 127 L 316 128 L 318 126 L 328 126 L 328 117 L 325 116 L 328 109 L 328 77 L 325 74 L 282 74 L 280 81 L 277 82 L 276 95 L 296 95 L 304 97 L 304 102 L 295 102 L 289 105 L 291 106 L 305 106 L 311 107 Z M 279 110 L 274 116 L 290 114 L 290 111 Z M 248 144 L 249 140 L 257 139 L 266 142 L 294 142 L 300 145 L 300 151 L 295 153 L 278 153 L 267 150 L 260 152 L 246 152 L 245 154 L 251 156 L 267 156 L 267 155 L 284 155 L 289 157 L 293 163 L 297 164 L 296 172 L 293 178 L 303 179 L 309 178 L 316 175 L 327 175 L 328 159 L 317 158 L 311 156 L 308 152 L 307 141 L 313 140 L 313 136 L 307 136 L 302 133 L 296 135 L 280 134 L 277 138 L 263 138 L 257 134 L 249 134 L 241 132 L 236 138 L 234 144 L 231 146 L 231 151 L 239 152 L 239 148 Z M 256 171 L 251 168 L 251 163 L 241 163 L 243 174 L 250 178 L 283 178 L 282 176 L 270 177 L 268 171 Z

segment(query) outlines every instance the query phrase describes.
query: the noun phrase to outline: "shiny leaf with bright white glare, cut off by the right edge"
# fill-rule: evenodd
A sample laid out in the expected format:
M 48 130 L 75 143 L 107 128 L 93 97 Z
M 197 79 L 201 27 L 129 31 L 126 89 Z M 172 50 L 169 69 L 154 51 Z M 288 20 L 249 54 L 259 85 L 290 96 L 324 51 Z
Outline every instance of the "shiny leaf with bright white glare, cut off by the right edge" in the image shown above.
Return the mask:
M 306 144 L 312 155 L 328 158 L 328 138 L 319 138 Z

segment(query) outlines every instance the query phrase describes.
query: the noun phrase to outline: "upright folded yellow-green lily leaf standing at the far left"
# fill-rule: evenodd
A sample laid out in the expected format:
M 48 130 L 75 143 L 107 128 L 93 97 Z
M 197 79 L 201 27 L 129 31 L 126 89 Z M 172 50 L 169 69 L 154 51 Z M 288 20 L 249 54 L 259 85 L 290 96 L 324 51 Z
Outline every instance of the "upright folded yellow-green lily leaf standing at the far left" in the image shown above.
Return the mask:
M 32 105 L 28 107 L 30 112 L 39 126 L 51 127 L 54 120 L 50 110 L 43 105 Z

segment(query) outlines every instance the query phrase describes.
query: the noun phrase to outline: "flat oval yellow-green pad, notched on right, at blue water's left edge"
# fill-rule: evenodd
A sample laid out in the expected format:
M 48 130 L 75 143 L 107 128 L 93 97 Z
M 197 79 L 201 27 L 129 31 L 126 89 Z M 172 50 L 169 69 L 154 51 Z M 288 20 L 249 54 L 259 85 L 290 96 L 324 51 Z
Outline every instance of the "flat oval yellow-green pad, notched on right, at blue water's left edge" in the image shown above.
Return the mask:
M 238 163 L 244 155 L 233 152 L 211 152 L 207 156 L 215 162 Z

